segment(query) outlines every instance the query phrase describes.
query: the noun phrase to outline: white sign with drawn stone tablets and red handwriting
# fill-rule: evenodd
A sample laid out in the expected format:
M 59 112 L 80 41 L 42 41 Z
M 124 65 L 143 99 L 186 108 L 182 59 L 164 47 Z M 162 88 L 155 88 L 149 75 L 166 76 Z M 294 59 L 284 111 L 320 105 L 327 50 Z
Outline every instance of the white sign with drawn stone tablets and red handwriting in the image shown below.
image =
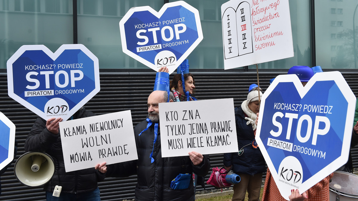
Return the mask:
M 224 69 L 294 56 L 289 1 L 231 0 L 221 16 Z

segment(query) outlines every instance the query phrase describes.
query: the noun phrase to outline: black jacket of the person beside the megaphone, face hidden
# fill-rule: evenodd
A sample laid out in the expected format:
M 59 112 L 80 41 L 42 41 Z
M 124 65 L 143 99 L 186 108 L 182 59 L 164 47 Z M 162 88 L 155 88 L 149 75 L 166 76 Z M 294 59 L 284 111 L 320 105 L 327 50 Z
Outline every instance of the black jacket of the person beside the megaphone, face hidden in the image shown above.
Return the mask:
M 74 115 L 73 119 L 94 116 L 93 112 L 82 107 Z M 63 161 L 60 133 L 52 134 L 46 128 L 46 120 L 37 118 L 25 141 L 25 151 L 46 152 L 58 162 L 58 169 L 52 180 L 44 185 L 44 190 L 52 192 L 56 185 L 62 186 L 64 193 L 83 193 L 94 191 L 97 182 L 103 181 L 105 176 L 95 168 L 66 172 Z

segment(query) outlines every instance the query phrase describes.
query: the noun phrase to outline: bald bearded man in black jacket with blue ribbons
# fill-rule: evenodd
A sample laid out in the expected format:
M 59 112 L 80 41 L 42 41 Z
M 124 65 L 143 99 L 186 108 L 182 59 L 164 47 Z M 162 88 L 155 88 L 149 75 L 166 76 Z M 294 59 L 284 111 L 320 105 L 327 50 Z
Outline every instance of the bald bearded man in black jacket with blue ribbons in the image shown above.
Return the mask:
M 169 74 L 168 74 L 169 84 Z M 193 180 L 189 179 L 185 189 L 172 189 L 171 181 L 179 174 L 205 176 L 210 169 L 209 158 L 191 151 L 188 156 L 161 157 L 159 103 L 167 102 L 167 91 L 153 91 L 148 97 L 147 119 L 137 124 L 134 135 L 138 160 L 106 165 L 98 164 L 96 169 L 106 176 L 126 177 L 137 174 L 136 201 L 193 201 L 195 200 Z M 169 102 L 174 101 L 170 92 Z

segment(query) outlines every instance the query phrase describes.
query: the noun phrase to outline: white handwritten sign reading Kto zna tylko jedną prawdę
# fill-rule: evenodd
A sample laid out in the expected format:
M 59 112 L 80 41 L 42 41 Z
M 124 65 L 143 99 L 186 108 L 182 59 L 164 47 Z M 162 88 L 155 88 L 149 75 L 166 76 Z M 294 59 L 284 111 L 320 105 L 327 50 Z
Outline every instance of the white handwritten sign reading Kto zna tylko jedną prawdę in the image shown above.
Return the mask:
M 233 99 L 159 103 L 159 108 L 163 157 L 238 152 Z

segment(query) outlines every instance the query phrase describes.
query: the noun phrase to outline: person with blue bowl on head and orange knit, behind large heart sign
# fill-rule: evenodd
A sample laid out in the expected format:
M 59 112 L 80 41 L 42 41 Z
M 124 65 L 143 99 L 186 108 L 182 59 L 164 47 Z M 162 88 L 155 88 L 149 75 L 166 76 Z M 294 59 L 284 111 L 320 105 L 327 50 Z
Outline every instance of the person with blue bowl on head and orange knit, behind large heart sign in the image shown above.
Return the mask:
M 314 75 L 313 70 L 308 66 L 293 66 L 289 69 L 287 74 L 296 74 L 300 79 L 303 86 Z M 257 116 L 259 114 L 257 113 Z M 255 120 L 257 124 L 258 117 Z M 299 190 L 292 189 L 289 199 L 291 201 L 302 201 L 309 199 L 310 201 L 328 201 L 329 200 L 329 181 L 333 177 L 333 173 L 325 177 L 323 180 L 315 184 L 307 191 L 300 194 Z M 269 168 L 267 168 L 265 186 L 263 187 L 262 201 L 285 201 L 279 189 L 276 186 L 274 179 L 272 178 Z

